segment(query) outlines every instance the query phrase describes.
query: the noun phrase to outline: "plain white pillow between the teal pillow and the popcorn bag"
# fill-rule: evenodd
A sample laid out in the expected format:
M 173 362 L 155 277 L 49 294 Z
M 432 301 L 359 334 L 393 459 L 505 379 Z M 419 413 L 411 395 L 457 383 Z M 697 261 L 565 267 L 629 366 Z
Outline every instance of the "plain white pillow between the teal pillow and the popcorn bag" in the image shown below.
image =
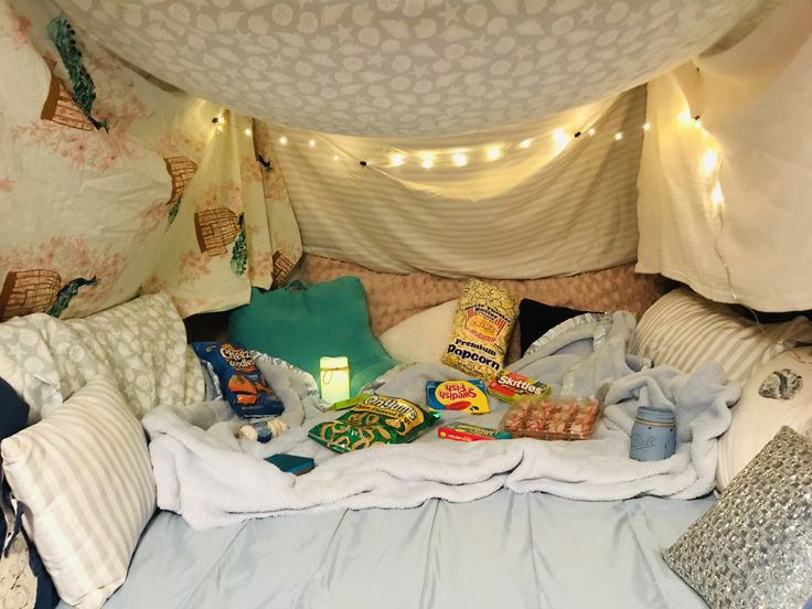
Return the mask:
M 386 352 L 398 363 L 439 364 L 451 335 L 459 299 L 406 318 L 381 334 Z

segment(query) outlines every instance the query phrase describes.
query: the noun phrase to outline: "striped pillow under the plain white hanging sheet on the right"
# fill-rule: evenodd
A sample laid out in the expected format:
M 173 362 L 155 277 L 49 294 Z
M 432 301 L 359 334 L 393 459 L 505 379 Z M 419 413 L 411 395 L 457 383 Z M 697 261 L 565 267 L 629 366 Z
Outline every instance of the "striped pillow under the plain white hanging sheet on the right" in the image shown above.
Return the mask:
M 651 359 L 655 365 L 671 365 L 684 372 L 716 362 L 730 381 L 745 383 L 757 366 L 792 346 L 795 340 L 810 338 L 812 324 L 806 318 L 759 325 L 727 304 L 680 288 L 645 311 L 638 324 L 632 353 Z

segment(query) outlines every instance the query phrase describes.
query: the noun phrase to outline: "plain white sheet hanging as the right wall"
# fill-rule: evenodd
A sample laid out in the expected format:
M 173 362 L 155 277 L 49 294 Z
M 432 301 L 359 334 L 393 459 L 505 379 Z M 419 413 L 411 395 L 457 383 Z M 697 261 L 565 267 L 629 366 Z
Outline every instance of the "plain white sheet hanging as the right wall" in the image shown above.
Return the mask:
M 812 4 L 789 0 L 649 84 L 639 271 L 760 310 L 812 307 L 811 32 Z

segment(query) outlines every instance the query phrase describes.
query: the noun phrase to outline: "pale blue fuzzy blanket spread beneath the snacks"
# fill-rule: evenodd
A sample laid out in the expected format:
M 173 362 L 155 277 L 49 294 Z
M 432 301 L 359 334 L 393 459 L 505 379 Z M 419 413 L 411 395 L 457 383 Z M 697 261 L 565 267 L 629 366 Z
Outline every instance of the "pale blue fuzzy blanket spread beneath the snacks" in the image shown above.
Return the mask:
M 500 488 L 544 491 L 579 500 L 619 500 L 640 494 L 691 499 L 713 489 L 718 437 L 730 423 L 728 406 L 739 388 L 718 366 L 691 375 L 644 367 L 628 355 L 634 332 L 630 313 L 574 328 L 516 362 L 512 370 L 583 395 L 603 395 L 607 407 L 589 441 L 516 439 L 455 442 L 435 429 L 410 445 L 335 455 L 308 439 L 314 424 L 333 418 L 314 407 L 301 375 L 261 363 L 286 405 L 291 429 L 268 445 L 239 441 L 223 402 L 182 409 L 158 408 L 143 418 L 158 484 L 158 505 L 194 527 L 212 527 L 299 510 L 409 507 L 430 498 L 472 501 Z M 427 380 L 458 378 L 452 368 L 414 365 L 387 375 L 378 388 L 425 404 Z M 676 414 L 677 452 L 663 461 L 629 459 L 629 436 L 639 403 Z M 495 427 L 504 405 L 490 415 L 444 415 Z M 260 458 L 277 453 L 314 457 L 302 477 L 282 473 Z

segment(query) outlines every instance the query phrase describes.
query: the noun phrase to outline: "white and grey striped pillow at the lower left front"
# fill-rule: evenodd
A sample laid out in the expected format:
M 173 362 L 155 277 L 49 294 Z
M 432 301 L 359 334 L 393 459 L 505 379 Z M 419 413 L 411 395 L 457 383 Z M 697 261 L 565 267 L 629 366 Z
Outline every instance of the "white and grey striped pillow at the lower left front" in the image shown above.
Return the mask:
M 156 507 L 147 441 L 121 394 L 97 377 L 0 445 L 23 525 L 60 597 L 100 607 L 121 585 Z

